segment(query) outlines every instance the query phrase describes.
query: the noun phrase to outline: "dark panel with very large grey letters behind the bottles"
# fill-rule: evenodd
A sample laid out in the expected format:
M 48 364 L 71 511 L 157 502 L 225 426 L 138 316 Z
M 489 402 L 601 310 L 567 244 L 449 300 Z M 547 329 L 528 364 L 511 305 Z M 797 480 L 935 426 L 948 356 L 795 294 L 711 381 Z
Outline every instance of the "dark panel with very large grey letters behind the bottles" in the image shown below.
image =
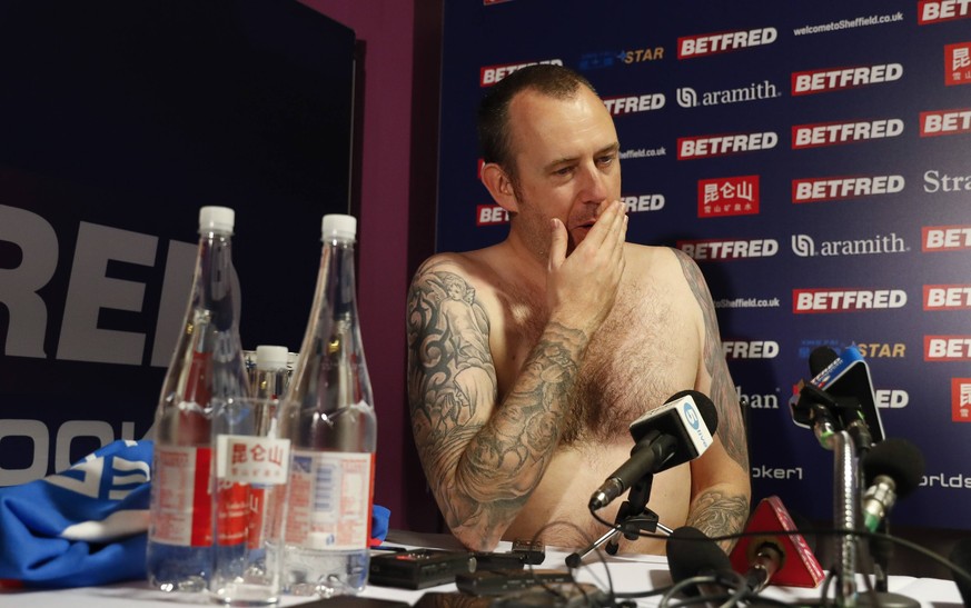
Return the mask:
M 348 208 L 351 30 L 297 2 L 53 4 L 0 4 L 0 486 L 145 436 L 199 207 L 236 209 L 244 348 L 293 351 Z

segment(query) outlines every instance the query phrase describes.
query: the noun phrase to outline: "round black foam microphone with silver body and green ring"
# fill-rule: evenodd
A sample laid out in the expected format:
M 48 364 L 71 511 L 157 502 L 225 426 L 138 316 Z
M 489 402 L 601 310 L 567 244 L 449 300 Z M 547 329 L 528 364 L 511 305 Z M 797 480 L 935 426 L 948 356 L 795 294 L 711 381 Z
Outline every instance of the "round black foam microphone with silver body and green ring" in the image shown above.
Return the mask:
M 890 512 L 898 497 L 904 497 L 920 486 L 924 475 L 924 457 L 905 439 L 884 439 L 861 459 L 866 491 L 863 492 L 863 522 L 875 531 Z

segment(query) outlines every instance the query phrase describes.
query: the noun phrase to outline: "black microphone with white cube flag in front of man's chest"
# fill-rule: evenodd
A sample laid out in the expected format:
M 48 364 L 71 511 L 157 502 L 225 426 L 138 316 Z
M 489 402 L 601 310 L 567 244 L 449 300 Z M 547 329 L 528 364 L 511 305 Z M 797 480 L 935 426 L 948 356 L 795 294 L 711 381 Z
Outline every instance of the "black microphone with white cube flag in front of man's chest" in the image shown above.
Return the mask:
M 589 510 L 603 509 L 648 474 L 694 460 L 712 445 L 719 413 L 696 390 L 673 395 L 663 406 L 631 422 L 631 458 L 591 496 Z

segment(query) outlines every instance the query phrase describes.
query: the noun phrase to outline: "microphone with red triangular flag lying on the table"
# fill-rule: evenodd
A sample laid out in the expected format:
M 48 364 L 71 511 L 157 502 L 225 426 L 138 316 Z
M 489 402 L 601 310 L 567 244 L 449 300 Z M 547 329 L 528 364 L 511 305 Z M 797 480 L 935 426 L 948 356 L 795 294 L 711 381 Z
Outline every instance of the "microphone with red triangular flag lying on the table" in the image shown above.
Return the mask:
M 770 584 L 816 587 L 825 578 L 812 549 L 777 496 L 763 498 L 730 556 L 732 568 L 745 576 L 753 592 Z M 755 536 L 752 532 L 765 532 Z M 792 534 L 785 534 L 792 532 Z

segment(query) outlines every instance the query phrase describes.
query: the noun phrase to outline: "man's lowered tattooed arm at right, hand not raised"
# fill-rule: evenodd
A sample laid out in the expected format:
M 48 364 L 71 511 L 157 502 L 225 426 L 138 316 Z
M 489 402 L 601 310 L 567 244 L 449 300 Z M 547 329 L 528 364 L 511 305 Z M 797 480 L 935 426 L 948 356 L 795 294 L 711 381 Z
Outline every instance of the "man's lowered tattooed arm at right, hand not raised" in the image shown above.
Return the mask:
M 740 532 L 749 518 L 751 484 L 749 448 L 735 385 L 722 352 L 719 322 L 707 285 L 697 265 L 673 250 L 702 317 L 702 356 L 696 390 L 709 395 L 719 412 L 717 439 L 692 462 L 692 499 L 687 525 L 709 536 Z M 722 541 L 726 551 L 733 541 Z

